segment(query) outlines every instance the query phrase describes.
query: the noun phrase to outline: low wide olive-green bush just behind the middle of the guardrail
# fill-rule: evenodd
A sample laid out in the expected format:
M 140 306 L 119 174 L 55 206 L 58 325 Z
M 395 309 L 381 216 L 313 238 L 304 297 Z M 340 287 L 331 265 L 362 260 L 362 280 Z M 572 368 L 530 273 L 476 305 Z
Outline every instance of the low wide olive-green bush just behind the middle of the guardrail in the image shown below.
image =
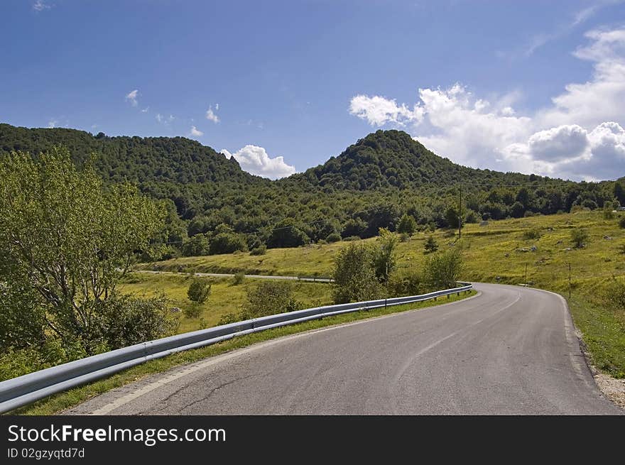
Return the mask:
M 264 317 L 270 314 L 293 312 L 303 307 L 295 300 L 290 283 L 266 280 L 247 290 L 242 319 Z

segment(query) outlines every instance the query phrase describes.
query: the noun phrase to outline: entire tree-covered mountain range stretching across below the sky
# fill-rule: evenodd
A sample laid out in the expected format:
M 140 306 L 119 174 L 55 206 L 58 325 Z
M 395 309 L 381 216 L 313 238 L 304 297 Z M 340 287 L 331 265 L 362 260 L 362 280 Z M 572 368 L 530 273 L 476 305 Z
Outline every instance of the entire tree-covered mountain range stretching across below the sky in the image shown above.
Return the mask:
M 0 156 L 37 155 L 55 144 L 78 165 L 94 153 L 104 180 L 129 180 L 165 202 L 167 226 L 146 259 L 370 237 L 396 229 L 404 214 L 423 229 L 625 204 L 625 179 L 572 182 L 467 168 L 403 131 L 376 131 L 322 165 L 270 181 L 183 137 L 0 124 Z

